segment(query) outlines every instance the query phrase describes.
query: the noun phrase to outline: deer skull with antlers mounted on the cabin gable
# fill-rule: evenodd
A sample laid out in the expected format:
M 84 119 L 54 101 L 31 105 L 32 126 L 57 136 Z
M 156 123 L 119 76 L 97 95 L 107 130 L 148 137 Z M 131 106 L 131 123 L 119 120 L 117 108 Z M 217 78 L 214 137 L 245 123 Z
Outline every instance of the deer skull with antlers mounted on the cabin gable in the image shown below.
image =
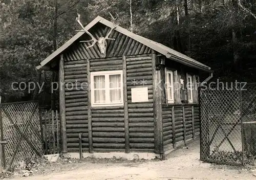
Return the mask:
M 95 43 L 97 43 L 99 50 L 100 50 L 100 54 L 101 57 L 105 58 L 106 57 L 106 46 L 107 46 L 107 42 L 106 40 L 115 40 L 113 38 L 109 38 L 110 34 L 112 33 L 112 31 L 117 27 L 116 26 L 116 20 L 118 19 L 118 14 L 116 13 L 117 17 L 114 18 L 113 15 L 110 13 L 112 19 L 113 19 L 113 27 L 111 28 L 111 30 L 109 31 L 109 33 L 105 36 L 105 37 L 99 37 L 99 39 L 96 39 L 88 30 L 86 30 L 86 28 L 84 28 L 80 22 L 80 14 L 77 14 L 77 18 L 76 21 L 78 22 L 78 24 L 82 27 L 82 30 L 78 30 L 79 32 L 85 32 L 87 33 L 92 39 L 91 40 L 83 40 L 80 42 L 92 42 L 91 46 L 88 46 L 86 49 L 88 48 L 92 48 Z

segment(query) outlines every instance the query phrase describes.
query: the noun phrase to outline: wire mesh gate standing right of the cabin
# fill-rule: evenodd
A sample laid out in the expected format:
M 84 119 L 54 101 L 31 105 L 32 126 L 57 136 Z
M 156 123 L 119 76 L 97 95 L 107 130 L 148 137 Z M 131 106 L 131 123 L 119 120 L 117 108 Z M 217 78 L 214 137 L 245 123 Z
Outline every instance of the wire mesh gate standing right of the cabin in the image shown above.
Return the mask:
M 256 155 L 256 84 L 200 87 L 201 161 L 244 165 Z

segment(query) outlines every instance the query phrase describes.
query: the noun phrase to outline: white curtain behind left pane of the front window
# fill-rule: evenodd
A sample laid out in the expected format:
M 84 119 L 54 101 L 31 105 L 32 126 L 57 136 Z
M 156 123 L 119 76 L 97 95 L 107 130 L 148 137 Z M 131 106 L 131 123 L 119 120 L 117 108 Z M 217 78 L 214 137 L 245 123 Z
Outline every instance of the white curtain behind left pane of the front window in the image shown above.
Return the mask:
M 94 76 L 94 103 L 105 101 L 105 76 Z

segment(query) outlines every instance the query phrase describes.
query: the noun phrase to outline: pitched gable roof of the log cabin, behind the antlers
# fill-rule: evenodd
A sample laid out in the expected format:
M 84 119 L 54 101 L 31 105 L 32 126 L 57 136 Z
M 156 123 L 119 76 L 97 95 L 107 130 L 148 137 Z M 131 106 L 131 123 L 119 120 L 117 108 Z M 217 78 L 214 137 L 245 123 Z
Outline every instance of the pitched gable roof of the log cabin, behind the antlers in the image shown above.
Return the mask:
M 108 27 L 113 27 L 113 22 L 104 19 L 101 16 L 96 17 L 93 21 L 91 21 L 85 28 L 87 30 L 91 29 L 97 22 L 100 22 L 101 24 L 108 26 Z M 155 42 L 153 40 L 147 39 L 145 37 L 139 36 L 137 34 L 132 33 L 129 30 L 126 30 L 120 26 L 117 26 L 115 28 L 116 31 L 133 38 L 137 40 L 138 42 L 144 44 L 145 46 L 165 55 L 167 58 L 178 61 L 182 64 L 185 64 L 187 66 L 201 69 L 204 71 L 212 72 L 210 68 L 207 65 L 204 65 L 203 63 L 200 63 L 182 53 L 179 53 L 178 51 L 175 51 L 173 49 L 170 49 L 166 46 L 164 46 L 161 43 Z M 75 42 L 79 37 L 81 37 L 85 32 L 78 32 L 75 36 L 73 36 L 71 39 L 69 39 L 65 44 L 63 44 L 60 48 L 58 48 L 55 52 L 53 52 L 50 56 L 48 56 L 45 60 L 40 62 L 40 65 L 37 66 L 38 68 L 41 68 L 42 66 L 46 65 L 48 62 L 50 62 L 52 59 L 54 59 L 56 56 L 61 54 L 63 51 L 65 51 L 68 47 L 71 46 L 73 42 Z

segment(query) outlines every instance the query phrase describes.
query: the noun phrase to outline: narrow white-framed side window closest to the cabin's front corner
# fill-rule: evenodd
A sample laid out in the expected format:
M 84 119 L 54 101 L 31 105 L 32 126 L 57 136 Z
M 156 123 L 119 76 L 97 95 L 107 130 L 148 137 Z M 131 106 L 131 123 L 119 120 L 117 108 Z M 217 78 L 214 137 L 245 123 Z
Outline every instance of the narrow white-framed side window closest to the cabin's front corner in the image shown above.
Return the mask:
M 174 103 L 174 73 L 166 70 L 166 88 L 168 103 Z

